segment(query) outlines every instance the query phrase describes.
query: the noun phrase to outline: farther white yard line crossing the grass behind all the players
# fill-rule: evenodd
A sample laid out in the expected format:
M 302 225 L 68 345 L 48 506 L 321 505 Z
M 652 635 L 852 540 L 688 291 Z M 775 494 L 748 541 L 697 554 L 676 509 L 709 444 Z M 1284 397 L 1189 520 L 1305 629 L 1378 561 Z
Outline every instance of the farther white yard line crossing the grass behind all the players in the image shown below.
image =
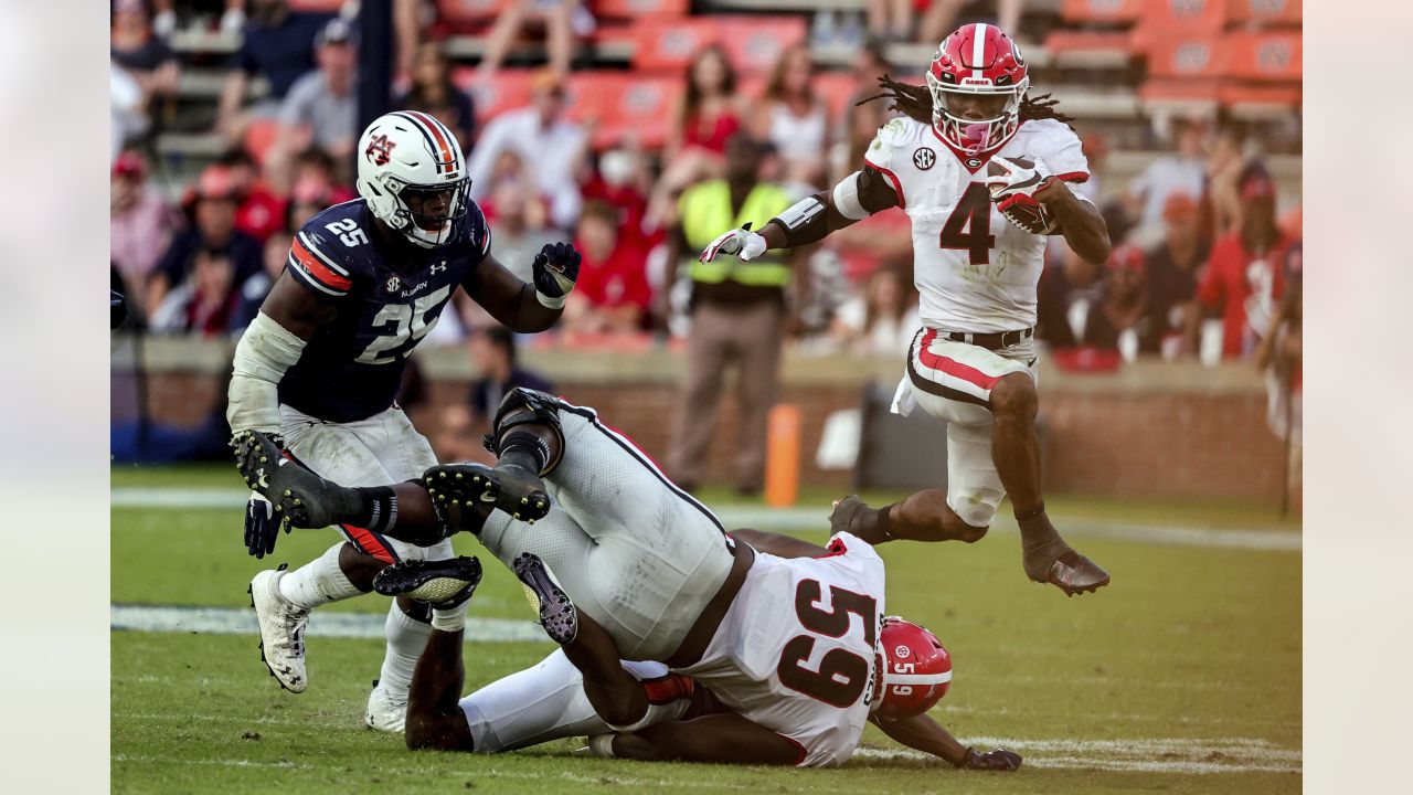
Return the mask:
M 158 508 L 195 509 L 229 508 L 240 509 L 249 491 L 229 488 L 137 488 L 119 487 L 112 489 L 113 508 Z M 762 530 L 824 530 L 828 528 L 828 511 L 824 508 L 750 508 L 725 506 L 716 516 L 728 528 L 756 528 Z M 992 530 L 1015 533 L 1009 519 L 1000 521 Z M 1300 552 L 1301 536 L 1290 530 L 1226 530 L 1187 525 L 1143 525 L 1133 522 L 1108 522 L 1085 519 L 1065 526 L 1065 536 L 1091 536 L 1136 543 L 1200 546 L 1218 549 L 1255 549 L 1263 552 Z

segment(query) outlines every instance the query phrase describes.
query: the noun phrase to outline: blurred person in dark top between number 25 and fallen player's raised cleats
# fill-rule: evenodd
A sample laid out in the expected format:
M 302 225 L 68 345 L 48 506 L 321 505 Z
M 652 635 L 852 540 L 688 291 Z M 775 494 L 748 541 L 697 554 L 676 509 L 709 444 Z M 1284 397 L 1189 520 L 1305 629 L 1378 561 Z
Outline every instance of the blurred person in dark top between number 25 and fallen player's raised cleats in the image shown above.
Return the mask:
M 533 371 L 516 364 L 516 338 L 503 325 L 495 324 L 471 335 L 466 342 L 478 378 L 471 383 L 466 403 L 451 406 L 442 414 L 442 431 L 437 434 L 437 455 L 444 461 L 495 463 L 495 457 L 480 444 L 490 430 L 500 399 L 517 386 L 554 392 L 554 386 Z

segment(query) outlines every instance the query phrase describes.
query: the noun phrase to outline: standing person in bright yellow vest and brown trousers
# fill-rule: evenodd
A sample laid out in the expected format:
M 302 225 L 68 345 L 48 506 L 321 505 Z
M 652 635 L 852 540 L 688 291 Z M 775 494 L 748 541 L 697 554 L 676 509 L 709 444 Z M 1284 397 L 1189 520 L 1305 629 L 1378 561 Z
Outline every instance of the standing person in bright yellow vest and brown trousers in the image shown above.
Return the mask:
M 673 478 L 687 489 L 701 482 L 716 426 L 722 376 L 731 364 L 738 366 L 736 491 L 756 494 L 764 482 L 766 417 L 776 400 L 780 349 L 793 327 L 787 289 L 791 283 L 807 289 L 808 250 L 771 252 L 750 262 L 736 257 L 701 262 L 691 256 L 723 229 L 746 224 L 759 229 L 790 207 L 794 197 L 780 185 L 760 181 L 763 151 L 760 143 L 743 133 L 731 137 L 726 177 L 682 191 L 678 226 L 668 235 L 666 283 L 674 284 L 677 269 L 688 267 L 692 284 L 687 375 L 668 454 Z M 681 262 L 684 256 L 691 259 Z M 794 306 L 801 303 L 796 300 Z

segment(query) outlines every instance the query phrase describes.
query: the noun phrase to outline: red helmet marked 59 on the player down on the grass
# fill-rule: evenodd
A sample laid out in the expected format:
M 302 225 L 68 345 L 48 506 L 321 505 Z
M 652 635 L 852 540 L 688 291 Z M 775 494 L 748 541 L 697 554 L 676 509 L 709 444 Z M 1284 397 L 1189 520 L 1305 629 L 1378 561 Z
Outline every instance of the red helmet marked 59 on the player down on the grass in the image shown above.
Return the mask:
M 923 627 L 897 615 L 883 618 L 879 634 L 882 695 L 875 714 L 896 720 L 933 709 L 952 682 L 952 655 Z

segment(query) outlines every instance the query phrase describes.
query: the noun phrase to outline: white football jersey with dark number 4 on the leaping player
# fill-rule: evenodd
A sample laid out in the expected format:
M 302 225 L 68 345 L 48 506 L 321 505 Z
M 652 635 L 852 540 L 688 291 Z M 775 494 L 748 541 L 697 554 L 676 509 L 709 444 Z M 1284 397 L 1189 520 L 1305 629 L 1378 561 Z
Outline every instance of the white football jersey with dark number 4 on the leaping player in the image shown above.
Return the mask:
M 1043 160 L 1067 181 L 1089 178 L 1078 136 L 1053 119 L 1020 124 L 993 154 Z M 909 117 L 879 129 L 863 154 L 893 184 L 913 221 L 913 282 L 930 328 L 1013 331 L 1036 324 L 1046 238 L 1020 229 L 992 204 L 989 157 L 958 153 L 931 124 Z

